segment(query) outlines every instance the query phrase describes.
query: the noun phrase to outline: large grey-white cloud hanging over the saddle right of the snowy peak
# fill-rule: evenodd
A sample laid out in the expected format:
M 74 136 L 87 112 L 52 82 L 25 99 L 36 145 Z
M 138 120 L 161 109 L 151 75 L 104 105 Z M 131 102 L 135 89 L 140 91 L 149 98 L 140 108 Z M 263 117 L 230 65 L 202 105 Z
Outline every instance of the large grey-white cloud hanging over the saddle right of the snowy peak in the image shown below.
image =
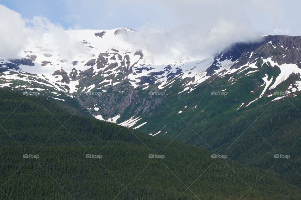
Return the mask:
M 129 3 L 135 5 L 137 0 L 129 0 Z M 235 42 L 258 40 L 266 30 L 254 26 L 252 15 L 277 13 L 278 9 L 268 6 L 271 1 L 256 0 L 165 0 L 157 3 L 155 13 L 171 15 L 166 14 L 167 18 L 162 18 L 161 22 L 147 21 L 138 29 L 145 38 L 134 39 L 135 43 L 153 52 L 157 60 L 199 59 L 214 55 Z M 141 15 L 143 17 L 143 13 Z

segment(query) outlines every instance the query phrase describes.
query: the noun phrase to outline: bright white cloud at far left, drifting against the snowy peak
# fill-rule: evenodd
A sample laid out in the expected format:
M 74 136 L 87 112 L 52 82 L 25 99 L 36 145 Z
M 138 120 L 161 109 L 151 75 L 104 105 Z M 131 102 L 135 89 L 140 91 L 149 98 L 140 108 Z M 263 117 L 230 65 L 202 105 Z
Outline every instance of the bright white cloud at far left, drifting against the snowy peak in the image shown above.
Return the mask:
M 21 14 L 0 5 L 0 24 L 0 43 L 3 47 L 0 49 L 0 59 L 18 58 L 29 44 L 40 46 L 47 42 L 53 44 L 66 59 L 87 50 L 80 41 L 72 40 L 61 25 L 53 24 L 45 17 L 22 18 Z

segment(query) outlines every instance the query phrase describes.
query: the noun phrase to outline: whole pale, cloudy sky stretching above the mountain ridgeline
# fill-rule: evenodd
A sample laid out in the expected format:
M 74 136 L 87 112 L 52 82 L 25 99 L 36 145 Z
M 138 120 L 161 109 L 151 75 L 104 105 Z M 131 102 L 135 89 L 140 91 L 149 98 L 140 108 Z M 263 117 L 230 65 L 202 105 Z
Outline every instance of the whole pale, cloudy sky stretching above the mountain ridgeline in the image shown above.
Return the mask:
M 148 35 L 149 45 L 156 44 L 153 50 L 172 47 L 193 56 L 262 34 L 301 35 L 299 0 L 1 0 L 0 4 L 0 22 L 11 27 L 11 33 L 10 28 L 1 28 L 0 42 L 23 25 L 44 23 L 38 29 L 50 32 L 126 27 Z M 17 37 L 23 36 L 15 35 L 15 43 Z

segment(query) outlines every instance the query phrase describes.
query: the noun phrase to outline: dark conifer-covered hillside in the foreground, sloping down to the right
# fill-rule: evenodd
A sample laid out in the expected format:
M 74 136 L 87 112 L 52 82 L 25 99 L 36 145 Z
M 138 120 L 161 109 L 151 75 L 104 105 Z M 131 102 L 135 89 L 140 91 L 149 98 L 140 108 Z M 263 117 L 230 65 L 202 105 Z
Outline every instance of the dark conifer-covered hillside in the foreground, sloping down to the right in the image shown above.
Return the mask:
M 212 158 L 43 97 L 0 90 L 0 119 L 0 199 L 299 198 L 272 165 Z

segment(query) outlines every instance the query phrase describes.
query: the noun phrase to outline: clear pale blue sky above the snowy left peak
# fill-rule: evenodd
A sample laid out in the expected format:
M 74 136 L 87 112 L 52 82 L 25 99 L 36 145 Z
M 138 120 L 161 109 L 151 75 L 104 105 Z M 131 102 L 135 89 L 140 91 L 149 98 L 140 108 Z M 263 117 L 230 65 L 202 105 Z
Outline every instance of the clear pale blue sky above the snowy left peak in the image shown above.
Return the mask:
M 135 3 L 134 9 L 124 1 L 2 0 L 2 4 L 22 14 L 24 18 L 47 17 L 51 22 L 63 25 L 65 29 L 136 29 L 146 23 L 145 19 L 135 12 L 141 5 Z M 153 12 L 143 12 L 156 18 Z

